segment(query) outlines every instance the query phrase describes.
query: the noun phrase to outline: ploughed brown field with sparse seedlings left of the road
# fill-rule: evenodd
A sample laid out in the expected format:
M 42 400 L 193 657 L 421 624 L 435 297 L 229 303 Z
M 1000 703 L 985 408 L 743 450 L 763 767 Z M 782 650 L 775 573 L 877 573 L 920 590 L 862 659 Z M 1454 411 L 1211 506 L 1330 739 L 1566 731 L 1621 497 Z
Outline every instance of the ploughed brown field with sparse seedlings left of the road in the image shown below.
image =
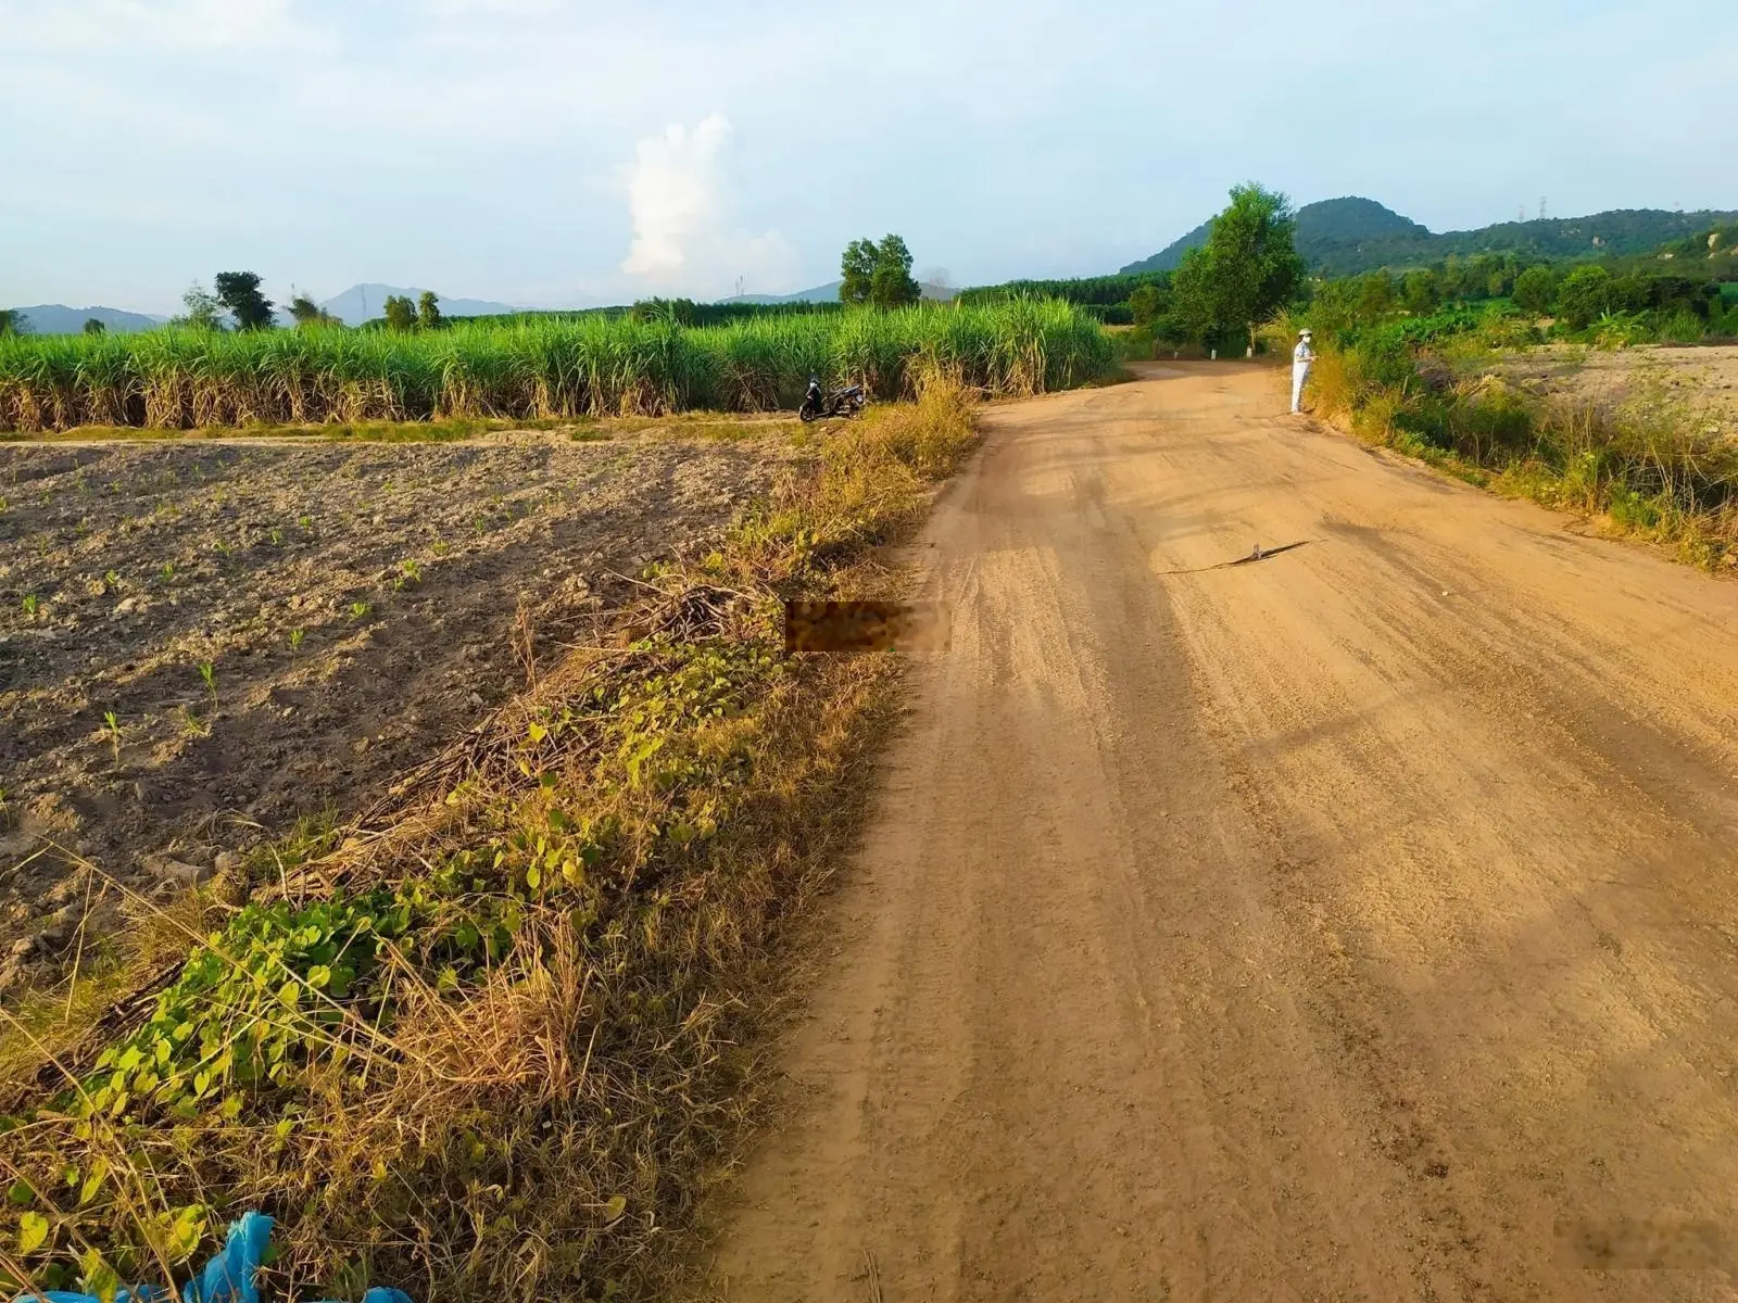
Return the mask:
M 115 921 L 63 850 L 172 893 L 358 813 L 523 686 L 521 605 L 558 655 L 773 443 L 0 443 L 0 985 Z

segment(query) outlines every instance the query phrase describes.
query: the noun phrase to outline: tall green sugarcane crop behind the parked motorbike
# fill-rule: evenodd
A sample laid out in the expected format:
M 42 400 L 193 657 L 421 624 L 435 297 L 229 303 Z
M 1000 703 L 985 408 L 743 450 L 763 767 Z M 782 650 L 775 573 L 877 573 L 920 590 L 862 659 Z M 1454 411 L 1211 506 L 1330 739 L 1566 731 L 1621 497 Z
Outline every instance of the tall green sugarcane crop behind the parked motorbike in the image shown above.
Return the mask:
M 457 325 L 0 339 L 0 431 L 572 419 L 794 408 L 810 375 L 907 396 L 940 365 L 992 394 L 1079 384 L 1112 363 L 1053 301 L 773 316 L 725 327 L 584 318 Z

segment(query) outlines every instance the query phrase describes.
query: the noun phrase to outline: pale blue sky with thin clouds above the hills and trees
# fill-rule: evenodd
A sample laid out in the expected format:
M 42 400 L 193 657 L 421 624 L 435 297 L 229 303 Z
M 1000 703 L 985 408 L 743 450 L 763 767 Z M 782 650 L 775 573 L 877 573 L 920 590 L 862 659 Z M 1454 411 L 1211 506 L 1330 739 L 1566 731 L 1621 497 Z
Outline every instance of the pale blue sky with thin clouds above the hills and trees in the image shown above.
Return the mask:
M 1097 274 L 1243 179 L 1738 208 L 1733 50 L 1731 0 L 0 0 L 0 304 Z

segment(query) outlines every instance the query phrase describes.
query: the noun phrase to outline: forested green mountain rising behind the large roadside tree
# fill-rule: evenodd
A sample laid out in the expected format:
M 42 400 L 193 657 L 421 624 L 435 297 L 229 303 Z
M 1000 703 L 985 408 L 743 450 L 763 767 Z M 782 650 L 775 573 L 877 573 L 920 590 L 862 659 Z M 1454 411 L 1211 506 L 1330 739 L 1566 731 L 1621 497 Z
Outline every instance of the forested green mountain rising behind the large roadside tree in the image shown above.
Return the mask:
M 1449 254 L 1522 254 L 1528 257 L 1602 257 L 1646 254 L 1660 245 L 1733 221 L 1724 212 L 1616 208 L 1590 217 L 1543 217 L 1496 222 L 1476 231 L 1429 231 L 1375 200 L 1340 198 L 1298 208 L 1297 248 L 1310 271 L 1356 276 L 1376 268 L 1415 268 Z M 1152 257 L 1130 262 L 1124 273 L 1171 271 L 1189 248 L 1206 243 L 1203 222 Z

